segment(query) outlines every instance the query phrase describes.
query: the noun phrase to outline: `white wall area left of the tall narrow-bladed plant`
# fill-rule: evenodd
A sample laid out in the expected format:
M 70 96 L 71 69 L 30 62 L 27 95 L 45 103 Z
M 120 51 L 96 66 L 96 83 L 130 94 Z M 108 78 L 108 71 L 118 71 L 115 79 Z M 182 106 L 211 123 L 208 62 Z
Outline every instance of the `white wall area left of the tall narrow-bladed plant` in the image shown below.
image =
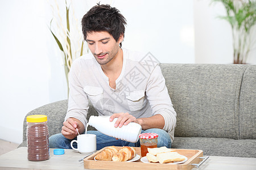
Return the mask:
M 0 139 L 21 143 L 26 114 L 67 99 L 67 86 L 59 50 L 48 38 L 46 1 L 0 3 Z

